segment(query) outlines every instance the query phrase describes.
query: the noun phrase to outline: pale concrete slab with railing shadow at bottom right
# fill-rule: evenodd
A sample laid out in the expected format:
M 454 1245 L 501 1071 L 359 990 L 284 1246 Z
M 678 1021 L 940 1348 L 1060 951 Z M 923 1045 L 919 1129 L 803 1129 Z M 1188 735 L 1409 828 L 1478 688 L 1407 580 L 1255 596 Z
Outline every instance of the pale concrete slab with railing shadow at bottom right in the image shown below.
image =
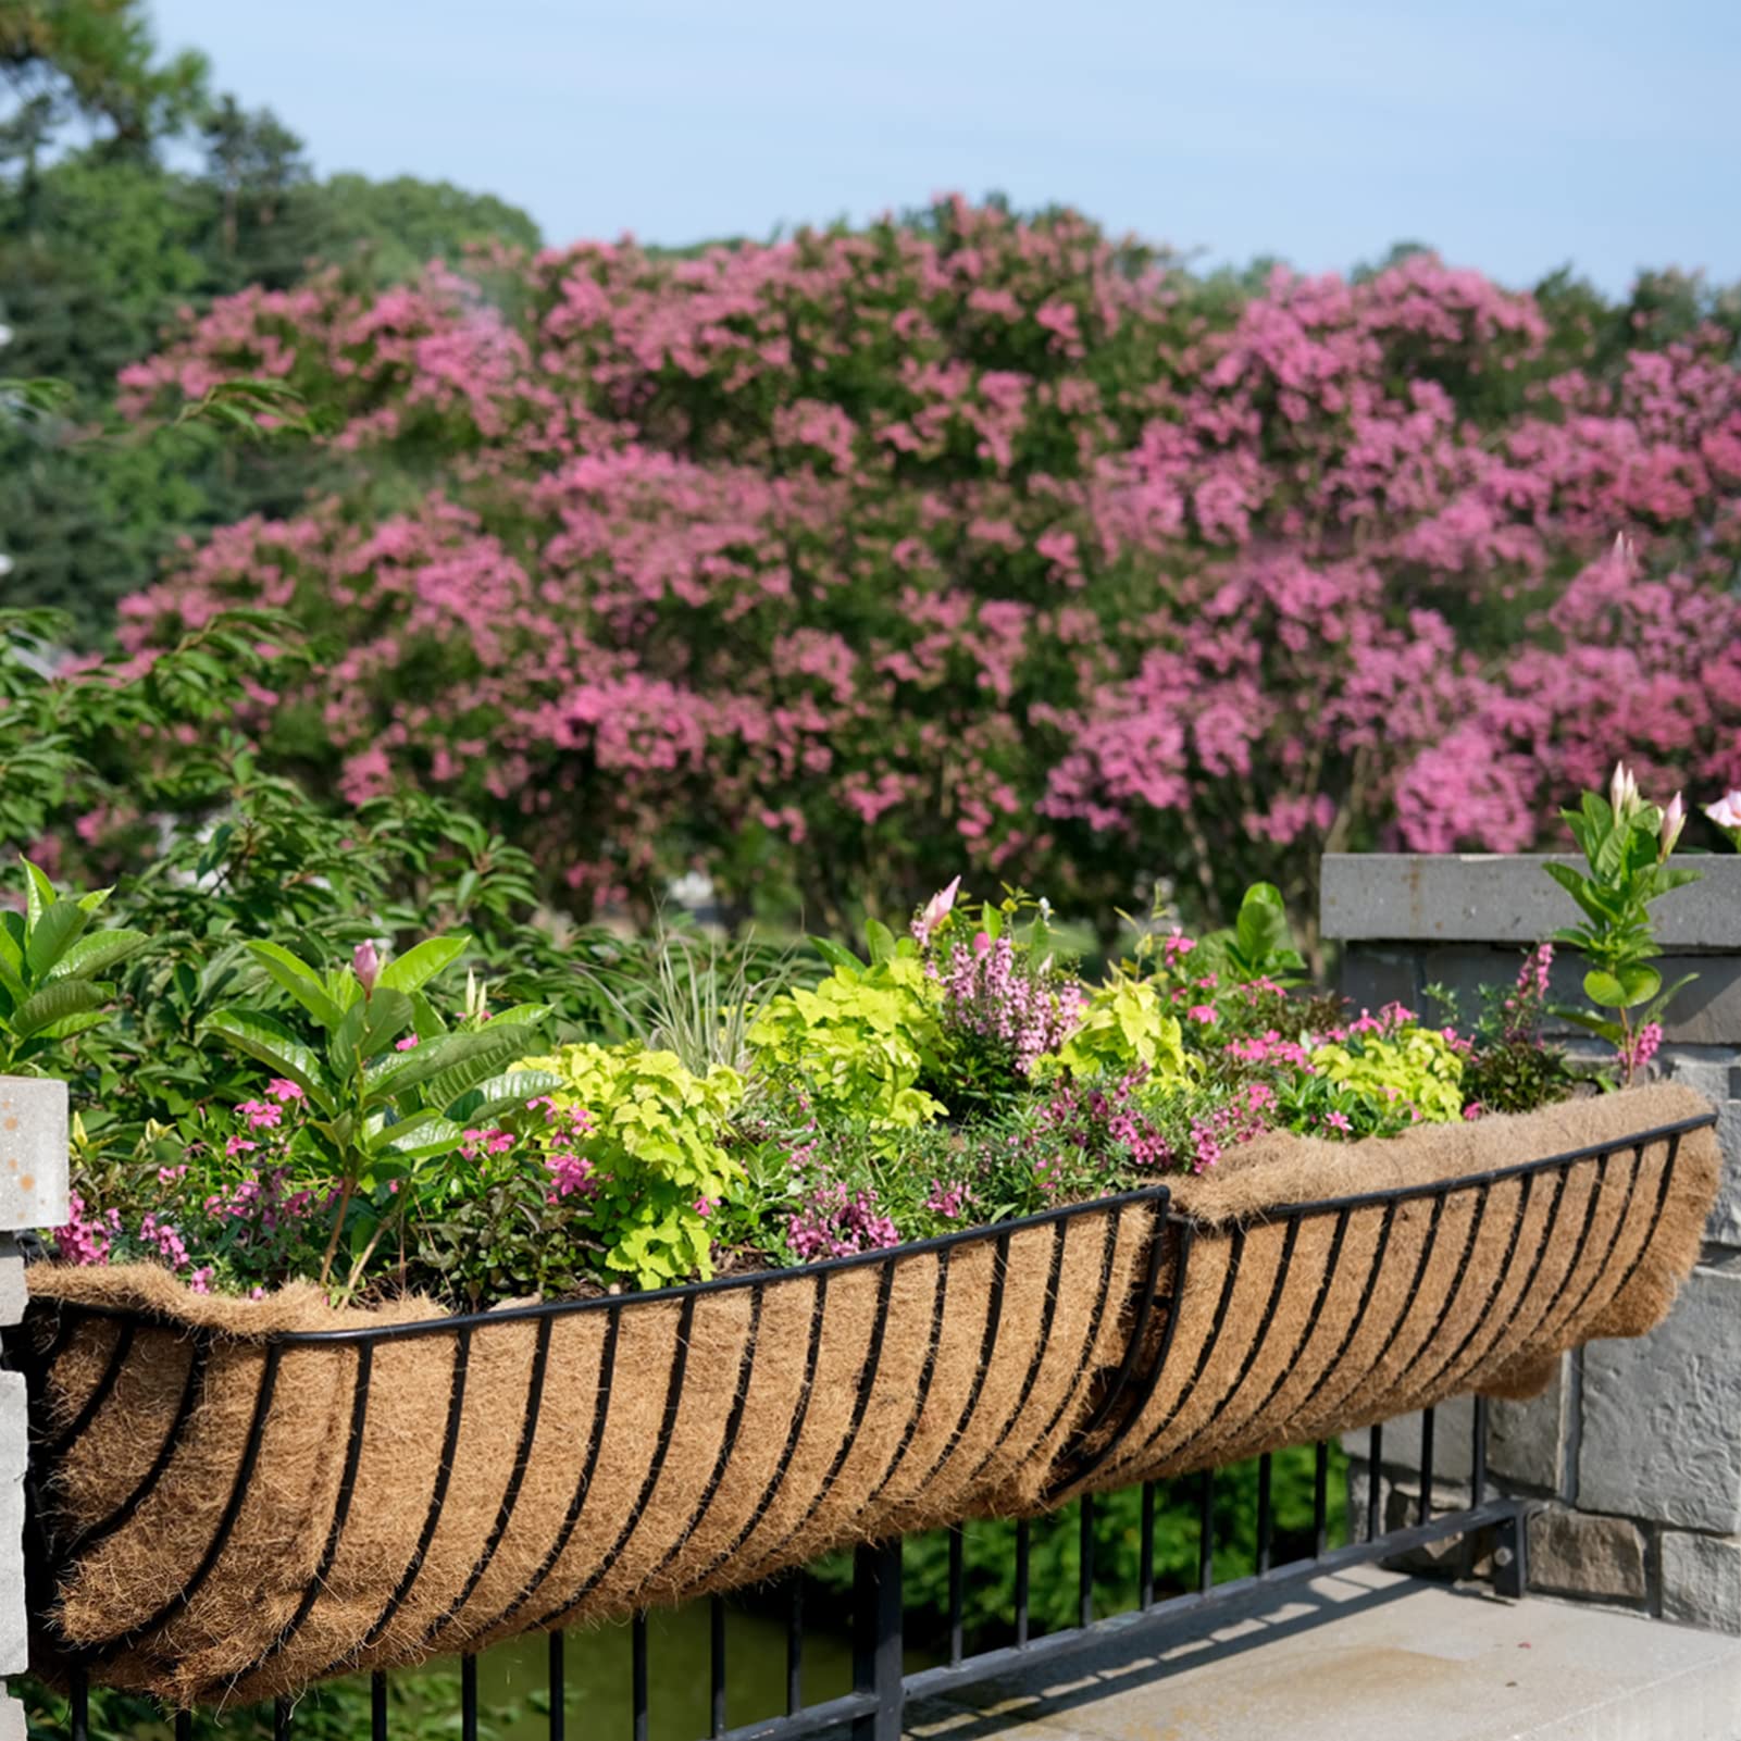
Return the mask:
M 1198 1621 L 1201 1624 L 1201 1621 Z M 1741 1741 L 1741 1638 L 1360 1569 L 916 1703 L 923 1741 Z

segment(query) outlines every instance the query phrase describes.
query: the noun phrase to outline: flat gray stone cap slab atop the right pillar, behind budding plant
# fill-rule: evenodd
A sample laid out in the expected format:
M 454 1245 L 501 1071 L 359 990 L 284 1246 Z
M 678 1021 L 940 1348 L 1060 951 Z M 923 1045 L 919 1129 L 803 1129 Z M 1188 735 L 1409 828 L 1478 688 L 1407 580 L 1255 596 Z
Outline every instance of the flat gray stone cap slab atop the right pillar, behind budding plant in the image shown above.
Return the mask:
M 1576 924 L 1543 865 L 1567 853 L 1325 853 L 1318 916 L 1341 942 L 1536 944 Z M 1664 895 L 1664 949 L 1741 949 L 1741 853 L 1687 855 L 1699 883 Z

